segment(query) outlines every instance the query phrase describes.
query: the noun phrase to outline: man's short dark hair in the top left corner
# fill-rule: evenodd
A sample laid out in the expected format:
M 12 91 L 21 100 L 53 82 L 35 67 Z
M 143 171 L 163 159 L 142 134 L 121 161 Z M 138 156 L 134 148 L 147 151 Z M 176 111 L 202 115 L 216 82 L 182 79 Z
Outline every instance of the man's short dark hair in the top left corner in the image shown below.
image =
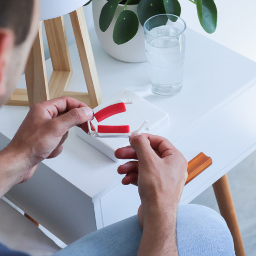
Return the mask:
M 34 0 L 0 0 L 0 29 L 15 34 L 15 45 L 20 45 L 29 34 Z

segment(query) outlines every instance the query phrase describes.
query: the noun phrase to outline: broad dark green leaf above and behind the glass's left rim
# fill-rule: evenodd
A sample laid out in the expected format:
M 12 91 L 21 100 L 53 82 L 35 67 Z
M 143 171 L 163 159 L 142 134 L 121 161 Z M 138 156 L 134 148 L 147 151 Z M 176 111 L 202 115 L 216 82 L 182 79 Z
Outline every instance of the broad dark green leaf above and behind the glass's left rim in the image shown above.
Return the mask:
M 138 18 L 141 25 L 150 17 L 161 13 L 166 13 L 163 0 L 140 0 Z

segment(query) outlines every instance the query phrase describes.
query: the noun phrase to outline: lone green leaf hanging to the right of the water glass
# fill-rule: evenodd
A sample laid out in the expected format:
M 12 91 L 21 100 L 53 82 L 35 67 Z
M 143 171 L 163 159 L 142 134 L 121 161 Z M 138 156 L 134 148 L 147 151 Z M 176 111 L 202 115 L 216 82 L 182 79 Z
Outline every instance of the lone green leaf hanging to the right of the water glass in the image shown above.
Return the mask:
M 217 8 L 214 0 L 196 0 L 197 16 L 203 29 L 211 34 L 217 26 Z

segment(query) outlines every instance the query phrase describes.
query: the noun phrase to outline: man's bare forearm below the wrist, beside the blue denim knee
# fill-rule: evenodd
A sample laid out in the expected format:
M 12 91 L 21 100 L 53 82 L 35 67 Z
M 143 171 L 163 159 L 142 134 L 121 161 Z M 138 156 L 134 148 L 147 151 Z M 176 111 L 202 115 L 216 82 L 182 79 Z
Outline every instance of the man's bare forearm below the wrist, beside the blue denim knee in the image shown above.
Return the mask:
M 138 256 L 178 256 L 176 212 L 165 210 L 145 218 Z

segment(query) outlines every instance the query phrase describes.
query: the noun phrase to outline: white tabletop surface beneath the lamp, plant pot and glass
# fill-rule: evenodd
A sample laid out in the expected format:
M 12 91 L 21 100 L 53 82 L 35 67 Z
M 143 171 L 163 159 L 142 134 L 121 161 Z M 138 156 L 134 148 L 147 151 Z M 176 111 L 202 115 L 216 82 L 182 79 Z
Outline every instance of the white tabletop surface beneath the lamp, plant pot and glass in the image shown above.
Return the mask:
M 172 98 L 154 96 L 149 90 L 147 63 L 124 63 L 104 52 L 94 32 L 91 42 L 104 99 L 127 88 L 168 112 L 170 126 L 161 135 L 176 144 L 199 123 L 209 118 L 253 83 L 256 63 L 192 31 L 187 31 L 184 83 L 180 94 Z M 76 46 L 70 47 L 74 75 L 69 90 L 86 91 Z M 47 61 L 48 77 L 51 65 Z M 24 88 L 24 76 L 19 87 Z M 0 132 L 12 138 L 28 111 L 27 107 L 4 106 L 0 109 Z M 190 160 L 194 152 L 186 150 Z M 199 152 L 198 152 L 199 153 Z M 62 154 L 43 161 L 60 176 L 87 195 L 94 197 L 110 184 L 118 184 L 115 163 L 70 130 Z

